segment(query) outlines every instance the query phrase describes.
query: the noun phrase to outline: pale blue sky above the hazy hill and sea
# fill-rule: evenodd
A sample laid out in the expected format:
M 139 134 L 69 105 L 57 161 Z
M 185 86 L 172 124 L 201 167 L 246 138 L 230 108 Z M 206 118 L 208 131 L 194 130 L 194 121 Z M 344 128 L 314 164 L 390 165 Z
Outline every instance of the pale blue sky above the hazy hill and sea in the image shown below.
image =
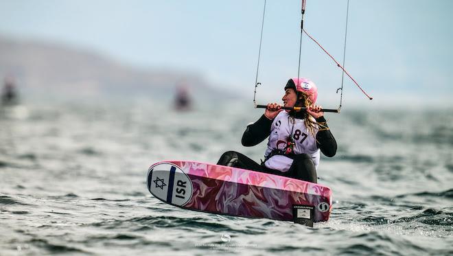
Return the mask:
M 0 36 L 61 43 L 140 69 L 196 73 L 253 97 L 263 0 L 0 0 Z M 297 76 L 300 0 L 268 0 L 257 97 Z M 449 104 L 453 1 L 349 0 L 345 68 L 371 104 Z M 307 0 L 304 28 L 342 62 L 347 0 Z M 303 35 L 301 76 L 339 100 L 342 72 Z M 1 58 L 1 56 L 0 56 Z M 344 103 L 370 104 L 349 78 Z

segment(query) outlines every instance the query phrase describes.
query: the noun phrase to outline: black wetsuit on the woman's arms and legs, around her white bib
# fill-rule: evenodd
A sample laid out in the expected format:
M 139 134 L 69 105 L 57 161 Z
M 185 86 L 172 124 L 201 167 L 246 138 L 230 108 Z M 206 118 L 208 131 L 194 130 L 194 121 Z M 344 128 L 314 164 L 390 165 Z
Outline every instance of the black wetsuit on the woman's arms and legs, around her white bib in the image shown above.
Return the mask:
M 324 117 L 319 117 L 316 121 L 318 123 L 323 123 L 325 128 L 327 128 L 327 123 Z M 272 120 L 268 119 L 265 115 L 262 115 L 262 117 L 260 117 L 254 124 L 247 126 L 244 135 L 242 135 L 242 146 L 251 147 L 264 141 L 264 139 L 270 135 L 271 126 Z M 336 154 L 336 141 L 334 139 L 334 135 L 332 135 L 332 132 L 330 132 L 329 129 L 318 130 L 316 133 L 316 146 L 325 156 L 332 157 Z M 277 174 L 281 176 L 289 176 L 292 178 L 299 178 L 303 181 L 316 183 L 316 168 L 312 157 L 309 154 L 295 154 L 291 156 L 291 158 L 294 159 L 294 161 L 288 172 L 280 172 L 278 170 L 269 169 L 264 166 L 264 162 L 261 164 L 256 163 L 244 154 L 235 151 L 228 151 L 222 154 L 217 164 Z

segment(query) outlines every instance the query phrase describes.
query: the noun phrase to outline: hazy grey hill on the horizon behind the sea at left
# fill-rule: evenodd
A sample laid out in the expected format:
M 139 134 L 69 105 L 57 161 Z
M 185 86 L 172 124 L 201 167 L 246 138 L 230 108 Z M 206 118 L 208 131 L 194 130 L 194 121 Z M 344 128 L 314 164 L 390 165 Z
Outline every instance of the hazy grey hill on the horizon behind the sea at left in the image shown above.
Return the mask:
M 8 74 L 21 91 L 32 93 L 172 97 L 176 86 L 185 84 L 198 96 L 233 97 L 198 75 L 135 69 L 91 51 L 0 37 L 0 75 Z

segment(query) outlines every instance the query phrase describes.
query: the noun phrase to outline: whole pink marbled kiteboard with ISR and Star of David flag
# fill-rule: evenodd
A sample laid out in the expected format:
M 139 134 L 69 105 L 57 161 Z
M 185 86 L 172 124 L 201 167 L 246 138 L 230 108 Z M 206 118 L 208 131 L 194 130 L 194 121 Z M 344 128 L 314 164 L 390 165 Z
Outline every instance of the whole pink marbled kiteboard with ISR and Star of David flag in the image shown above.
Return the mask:
M 167 204 L 207 213 L 312 226 L 329 220 L 332 211 L 329 187 L 223 165 L 159 162 L 148 169 L 147 184 Z

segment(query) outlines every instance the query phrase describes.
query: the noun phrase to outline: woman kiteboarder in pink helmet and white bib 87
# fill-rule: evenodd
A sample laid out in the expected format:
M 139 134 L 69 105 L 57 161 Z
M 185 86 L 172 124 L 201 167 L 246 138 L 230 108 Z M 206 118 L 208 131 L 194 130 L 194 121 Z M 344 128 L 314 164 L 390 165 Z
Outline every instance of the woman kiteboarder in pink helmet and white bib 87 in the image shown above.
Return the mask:
M 301 110 L 283 110 L 281 105 L 267 105 L 264 115 L 247 126 L 242 135 L 243 146 L 255 146 L 269 137 L 264 161 L 256 163 L 244 154 L 228 151 L 222 154 L 218 165 L 239 167 L 298 178 L 316 183 L 316 168 L 320 151 L 325 156 L 336 154 L 336 141 L 317 106 L 318 89 L 307 78 L 292 78 L 281 98 L 283 107 L 301 106 Z

